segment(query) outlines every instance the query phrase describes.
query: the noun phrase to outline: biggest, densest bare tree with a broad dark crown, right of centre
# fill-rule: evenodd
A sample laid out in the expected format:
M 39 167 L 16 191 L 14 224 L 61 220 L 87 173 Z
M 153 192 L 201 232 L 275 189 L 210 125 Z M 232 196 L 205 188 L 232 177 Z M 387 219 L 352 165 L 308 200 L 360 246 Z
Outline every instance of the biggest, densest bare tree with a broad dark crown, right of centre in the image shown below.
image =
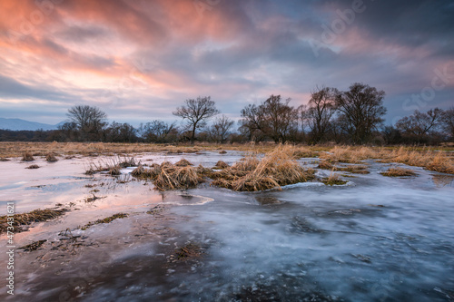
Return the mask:
M 377 91 L 364 83 L 353 83 L 350 91 L 336 96 L 336 107 L 341 112 L 339 122 L 352 141 L 363 143 L 370 140 L 372 132 L 384 121 L 384 91 Z

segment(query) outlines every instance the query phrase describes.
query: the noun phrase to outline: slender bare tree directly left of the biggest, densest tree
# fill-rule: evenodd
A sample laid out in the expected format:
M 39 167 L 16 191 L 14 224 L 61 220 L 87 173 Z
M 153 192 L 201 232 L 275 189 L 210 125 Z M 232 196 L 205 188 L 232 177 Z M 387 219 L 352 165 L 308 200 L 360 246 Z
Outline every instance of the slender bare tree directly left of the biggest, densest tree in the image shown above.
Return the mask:
M 305 119 L 311 129 L 313 143 L 323 140 L 331 129 L 331 117 L 336 112 L 337 94 L 338 90 L 330 87 L 316 87 L 311 92 Z

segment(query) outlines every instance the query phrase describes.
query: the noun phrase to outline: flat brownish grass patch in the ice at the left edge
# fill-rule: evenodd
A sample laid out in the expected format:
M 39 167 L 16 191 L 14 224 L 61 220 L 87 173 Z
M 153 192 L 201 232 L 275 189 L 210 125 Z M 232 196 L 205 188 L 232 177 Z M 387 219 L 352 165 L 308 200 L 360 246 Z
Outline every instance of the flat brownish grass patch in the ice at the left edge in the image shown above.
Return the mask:
M 64 209 L 35 209 L 28 213 L 15 214 L 12 216 L 13 219 L 8 220 L 8 216 L 4 215 L 0 217 L 0 233 L 7 230 L 8 221 L 12 221 L 12 225 L 15 227 L 14 232 L 18 233 L 24 231 L 21 226 L 30 225 L 33 222 L 47 221 L 55 219 L 64 214 Z M 10 217 L 11 218 L 11 217 Z

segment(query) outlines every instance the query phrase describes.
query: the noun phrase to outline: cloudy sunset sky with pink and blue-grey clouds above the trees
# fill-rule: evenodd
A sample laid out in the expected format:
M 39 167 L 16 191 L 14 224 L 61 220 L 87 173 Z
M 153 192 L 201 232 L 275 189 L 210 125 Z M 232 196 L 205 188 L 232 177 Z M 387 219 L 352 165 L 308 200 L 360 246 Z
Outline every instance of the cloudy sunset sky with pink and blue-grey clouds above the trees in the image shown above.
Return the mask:
M 386 93 L 386 123 L 454 105 L 454 1 L 0 0 L 0 117 L 178 120 L 210 95 L 239 119 L 271 94 Z

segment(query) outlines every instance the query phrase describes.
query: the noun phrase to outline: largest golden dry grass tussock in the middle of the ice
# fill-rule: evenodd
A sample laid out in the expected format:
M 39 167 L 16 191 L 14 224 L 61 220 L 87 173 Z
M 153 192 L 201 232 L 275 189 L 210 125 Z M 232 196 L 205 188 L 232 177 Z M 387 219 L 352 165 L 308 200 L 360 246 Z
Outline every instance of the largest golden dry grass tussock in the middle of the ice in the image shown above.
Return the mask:
M 294 147 L 279 145 L 262 160 L 251 154 L 211 177 L 212 185 L 231 190 L 281 190 L 283 185 L 313 179 L 313 172 L 294 161 Z

